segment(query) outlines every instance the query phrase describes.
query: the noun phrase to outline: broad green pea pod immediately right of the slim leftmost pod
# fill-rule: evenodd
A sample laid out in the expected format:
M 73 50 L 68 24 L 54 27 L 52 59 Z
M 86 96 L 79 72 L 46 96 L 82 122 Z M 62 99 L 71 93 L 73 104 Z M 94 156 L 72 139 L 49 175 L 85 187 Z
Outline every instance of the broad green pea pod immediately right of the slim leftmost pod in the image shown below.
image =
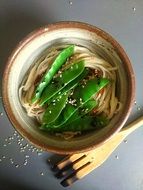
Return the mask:
M 40 105 L 42 106 L 48 100 L 50 100 L 54 95 L 58 94 L 62 89 L 66 88 L 66 86 L 76 79 L 84 70 L 84 61 L 77 62 L 69 67 L 67 70 L 63 72 L 60 77 L 57 77 L 53 83 L 50 83 L 44 89 L 41 98 Z M 80 79 L 80 78 L 79 78 Z M 76 81 L 75 82 L 79 82 Z M 74 86 L 75 84 L 73 84 Z

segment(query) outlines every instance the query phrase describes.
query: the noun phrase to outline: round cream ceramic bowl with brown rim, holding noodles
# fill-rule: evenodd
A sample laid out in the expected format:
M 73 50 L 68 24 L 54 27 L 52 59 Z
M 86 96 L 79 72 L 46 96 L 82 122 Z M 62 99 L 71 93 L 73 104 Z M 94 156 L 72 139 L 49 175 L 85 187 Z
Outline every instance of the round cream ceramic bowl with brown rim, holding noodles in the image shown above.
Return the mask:
M 38 129 L 20 104 L 19 85 L 33 60 L 48 47 L 57 44 L 79 44 L 97 51 L 118 65 L 117 96 L 123 104 L 108 126 L 75 137 L 69 141 Z M 105 143 L 125 124 L 134 101 L 135 85 L 131 63 L 119 43 L 103 30 L 80 22 L 59 22 L 40 28 L 21 41 L 6 64 L 3 76 L 3 103 L 15 129 L 32 144 L 59 154 L 91 150 Z

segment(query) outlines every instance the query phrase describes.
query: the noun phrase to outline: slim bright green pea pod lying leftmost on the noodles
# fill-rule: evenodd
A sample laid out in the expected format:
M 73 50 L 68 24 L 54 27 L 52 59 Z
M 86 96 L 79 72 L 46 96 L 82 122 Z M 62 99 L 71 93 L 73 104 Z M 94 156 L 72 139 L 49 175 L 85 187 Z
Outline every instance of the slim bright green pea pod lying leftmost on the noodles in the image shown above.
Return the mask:
M 32 102 L 39 100 L 44 88 L 51 82 L 53 76 L 58 72 L 61 66 L 66 62 L 67 58 L 69 58 L 74 53 L 74 45 L 71 45 L 59 53 L 55 61 L 53 62 L 51 68 L 47 71 L 47 73 L 42 78 L 40 84 L 36 88 L 36 92 L 32 99 Z

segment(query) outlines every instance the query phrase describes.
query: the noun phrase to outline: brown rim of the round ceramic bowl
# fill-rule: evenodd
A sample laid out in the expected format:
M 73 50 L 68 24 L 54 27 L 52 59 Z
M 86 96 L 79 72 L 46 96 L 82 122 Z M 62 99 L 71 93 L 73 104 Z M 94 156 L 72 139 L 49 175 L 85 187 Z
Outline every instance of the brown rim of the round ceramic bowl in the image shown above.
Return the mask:
M 121 60 L 123 60 L 123 62 L 126 63 L 125 66 L 128 70 L 127 75 L 128 75 L 128 82 L 130 85 L 130 88 L 129 88 L 130 89 L 130 98 L 128 98 L 128 100 L 127 100 L 126 110 L 124 111 L 124 115 L 122 115 L 120 117 L 120 121 L 118 121 L 118 127 L 112 128 L 107 134 L 104 135 L 104 137 L 102 139 L 99 139 L 96 144 L 94 144 L 94 143 L 89 144 L 85 148 L 82 148 L 82 149 L 73 147 L 70 150 L 67 150 L 67 149 L 65 150 L 63 148 L 55 148 L 55 147 L 47 146 L 47 145 L 41 143 L 39 140 L 34 138 L 31 134 L 29 134 L 27 131 L 25 131 L 21 127 L 20 123 L 16 120 L 16 117 L 10 107 L 10 102 L 9 102 L 9 97 L 8 97 L 7 84 L 8 84 L 9 72 L 10 72 L 10 69 L 13 65 L 15 58 L 17 57 L 19 52 L 22 50 L 22 48 L 25 47 L 33 39 L 37 38 L 39 35 L 42 35 L 44 33 L 51 32 L 54 30 L 63 29 L 63 28 L 64 29 L 65 28 L 67 28 L 67 29 L 68 28 L 85 29 L 87 31 L 96 33 L 97 35 L 101 36 L 102 38 L 104 38 L 106 41 L 110 42 L 113 45 L 113 47 L 115 48 L 115 50 L 116 50 L 117 54 L 119 55 L 119 57 L 121 58 Z M 9 56 L 6 66 L 5 66 L 5 69 L 4 69 L 3 78 L 2 78 L 3 105 L 4 105 L 4 109 L 6 111 L 6 114 L 9 118 L 9 120 L 11 121 L 11 123 L 13 124 L 14 128 L 25 139 L 30 141 L 30 143 L 32 143 L 33 145 L 35 145 L 45 151 L 58 153 L 58 154 L 74 154 L 74 153 L 89 151 L 89 150 L 92 150 L 92 149 L 102 145 L 106 141 L 108 141 L 113 135 L 115 135 L 117 132 L 119 132 L 121 130 L 121 128 L 124 126 L 125 122 L 127 121 L 128 117 L 129 117 L 129 114 L 131 112 L 134 98 L 135 98 L 135 75 L 133 72 L 131 62 L 130 62 L 127 54 L 125 53 L 124 49 L 110 34 L 103 31 L 102 29 L 100 29 L 96 26 L 90 25 L 88 23 L 77 22 L 77 21 L 61 21 L 61 22 L 56 22 L 53 24 L 48 24 L 48 25 L 40 27 L 40 28 L 34 30 L 33 32 L 31 32 L 30 34 L 28 34 L 25 38 L 23 38 L 23 40 L 21 40 L 18 43 L 16 48 L 12 51 L 11 55 Z

